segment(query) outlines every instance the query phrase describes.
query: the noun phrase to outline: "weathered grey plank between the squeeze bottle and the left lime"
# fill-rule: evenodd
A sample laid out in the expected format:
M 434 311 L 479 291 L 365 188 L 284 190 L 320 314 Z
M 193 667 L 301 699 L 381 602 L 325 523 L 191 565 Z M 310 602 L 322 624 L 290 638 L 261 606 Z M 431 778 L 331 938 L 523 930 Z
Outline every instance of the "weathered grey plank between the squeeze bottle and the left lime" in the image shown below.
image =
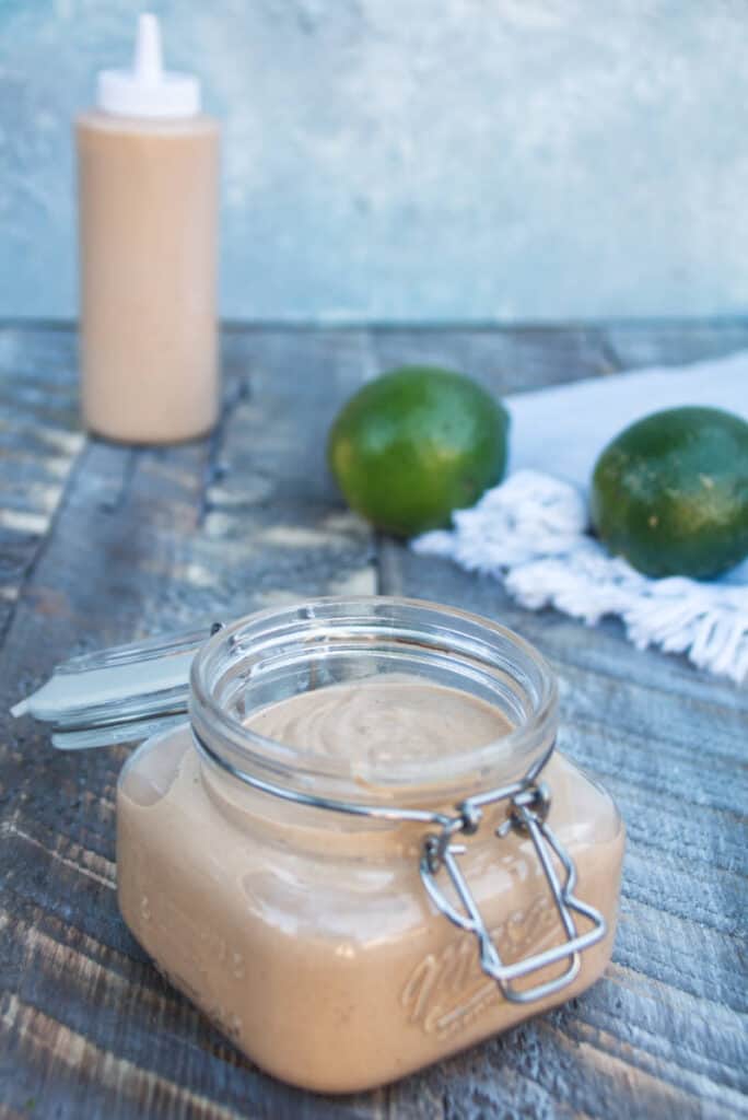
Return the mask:
M 366 525 L 339 506 L 327 472 L 331 419 L 374 364 L 365 332 L 251 332 L 225 339 L 249 377 L 189 542 L 186 612 L 232 617 L 307 595 L 373 594 Z M 231 375 L 231 374 L 230 374 Z

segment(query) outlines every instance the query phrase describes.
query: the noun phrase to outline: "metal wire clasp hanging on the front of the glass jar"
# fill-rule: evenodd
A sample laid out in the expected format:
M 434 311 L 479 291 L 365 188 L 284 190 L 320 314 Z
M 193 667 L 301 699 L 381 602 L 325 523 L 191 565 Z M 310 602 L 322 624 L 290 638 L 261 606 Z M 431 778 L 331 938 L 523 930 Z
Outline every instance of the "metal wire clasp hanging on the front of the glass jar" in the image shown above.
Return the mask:
M 465 846 L 452 842 L 454 837 L 460 832 L 465 836 L 477 832 L 483 818 L 483 806 L 503 800 L 509 801 L 511 810 L 507 819 L 496 830 L 496 836 L 501 839 L 514 830 L 530 837 L 567 939 L 552 949 L 530 954 L 512 964 L 504 964 L 502 961 L 498 949 L 459 867 L 458 857 L 465 852 Z M 577 869 L 546 824 L 550 804 L 551 794 L 545 783 L 520 782 L 512 786 L 493 790 L 459 804 L 457 815 L 446 820 L 440 832 L 430 833 L 423 844 L 420 871 L 431 900 L 450 922 L 475 935 L 478 943 L 480 967 L 484 972 L 493 977 L 504 998 L 513 1004 L 531 1004 L 570 984 L 579 973 L 579 954 L 600 941 L 607 930 L 602 915 L 574 896 Z M 561 879 L 557 872 L 553 856 L 561 865 L 563 872 Z M 437 881 L 437 877 L 442 870 L 455 888 L 460 909 L 449 902 Z M 578 933 L 574 923 L 576 914 L 583 915 L 592 923 L 586 933 Z M 523 990 L 517 990 L 513 986 L 513 981 L 521 977 L 563 960 L 568 961 L 568 964 L 560 976 Z

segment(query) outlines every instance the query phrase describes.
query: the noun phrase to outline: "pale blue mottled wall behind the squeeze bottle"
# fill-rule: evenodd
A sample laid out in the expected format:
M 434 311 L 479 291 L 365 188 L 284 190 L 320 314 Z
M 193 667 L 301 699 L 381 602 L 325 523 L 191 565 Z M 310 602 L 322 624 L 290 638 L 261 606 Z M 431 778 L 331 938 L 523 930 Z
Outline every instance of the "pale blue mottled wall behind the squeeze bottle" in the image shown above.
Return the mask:
M 225 315 L 748 308 L 745 0 L 152 9 L 225 121 Z M 140 10 L 0 0 L 0 315 L 75 310 L 69 120 Z

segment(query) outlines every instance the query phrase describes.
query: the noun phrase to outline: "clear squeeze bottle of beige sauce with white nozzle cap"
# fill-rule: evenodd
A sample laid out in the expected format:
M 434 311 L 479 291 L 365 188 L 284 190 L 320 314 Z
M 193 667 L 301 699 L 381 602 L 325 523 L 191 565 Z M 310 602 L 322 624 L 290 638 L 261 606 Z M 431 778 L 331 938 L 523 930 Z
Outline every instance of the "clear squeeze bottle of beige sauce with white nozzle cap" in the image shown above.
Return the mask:
M 162 68 L 140 16 L 131 71 L 103 71 L 76 121 L 86 427 L 169 444 L 218 411 L 218 124 L 188 74 Z

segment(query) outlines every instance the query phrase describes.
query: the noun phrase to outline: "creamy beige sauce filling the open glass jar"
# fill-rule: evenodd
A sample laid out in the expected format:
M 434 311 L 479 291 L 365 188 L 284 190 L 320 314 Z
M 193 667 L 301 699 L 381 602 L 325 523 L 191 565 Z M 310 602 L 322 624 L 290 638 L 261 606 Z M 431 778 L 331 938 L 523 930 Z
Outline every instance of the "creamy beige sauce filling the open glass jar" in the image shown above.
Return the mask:
M 250 725 L 339 758 L 374 752 L 385 768 L 408 752 L 422 759 L 427 785 L 429 758 L 508 729 L 476 698 L 395 682 L 322 689 Z M 122 774 L 120 906 L 158 967 L 263 1068 L 327 1092 L 382 1084 L 579 993 L 608 962 L 620 820 L 563 757 L 544 777 L 577 893 L 609 932 L 571 986 L 539 1002 L 506 1002 L 480 970 L 475 940 L 434 911 L 418 867 L 427 827 L 408 825 L 409 842 L 394 843 L 402 825 L 319 811 L 309 819 L 207 767 L 187 728 L 144 745 Z M 561 934 L 527 838 L 494 836 L 505 812 L 467 839 L 460 867 L 502 958 L 514 961 Z

